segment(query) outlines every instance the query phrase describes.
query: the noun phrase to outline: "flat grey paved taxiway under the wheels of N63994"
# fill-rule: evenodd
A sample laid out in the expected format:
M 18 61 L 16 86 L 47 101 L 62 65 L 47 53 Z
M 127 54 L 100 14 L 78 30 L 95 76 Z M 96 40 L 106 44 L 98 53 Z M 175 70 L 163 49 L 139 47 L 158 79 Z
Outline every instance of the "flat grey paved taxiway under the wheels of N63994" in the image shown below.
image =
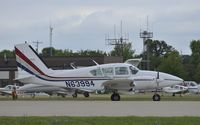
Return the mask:
M 0 116 L 200 116 L 200 102 L 0 101 Z

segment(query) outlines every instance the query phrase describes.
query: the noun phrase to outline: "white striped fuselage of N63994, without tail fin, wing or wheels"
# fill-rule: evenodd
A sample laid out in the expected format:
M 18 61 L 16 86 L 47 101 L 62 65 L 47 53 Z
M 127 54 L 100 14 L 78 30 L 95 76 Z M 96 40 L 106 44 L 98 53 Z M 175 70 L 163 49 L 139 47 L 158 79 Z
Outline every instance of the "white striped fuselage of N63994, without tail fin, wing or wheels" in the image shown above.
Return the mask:
M 158 74 L 159 78 L 157 78 Z M 46 76 L 33 76 L 20 81 L 88 92 L 104 90 L 105 86 L 103 84 L 114 79 L 132 80 L 133 88 L 138 90 L 162 88 L 183 82 L 181 78 L 167 73 L 139 70 L 125 63 L 103 64 L 72 70 L 51 70 L 47 75 L 50 76 L 48 79 L 46 79 Z M 55 79 L 58 77 L 59 79 Z

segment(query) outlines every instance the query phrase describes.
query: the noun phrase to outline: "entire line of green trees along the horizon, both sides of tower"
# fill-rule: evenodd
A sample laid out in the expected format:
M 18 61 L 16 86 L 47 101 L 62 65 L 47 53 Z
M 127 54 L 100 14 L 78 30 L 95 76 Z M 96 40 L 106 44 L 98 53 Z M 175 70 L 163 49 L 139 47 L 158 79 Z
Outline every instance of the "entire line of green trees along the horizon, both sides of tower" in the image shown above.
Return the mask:
M 39 55 L 43 57 L 50 56 L 122 56 L 123 60 L 130 58 L 142 58 L 149 56 L 149 69 L 154 71 L 162 71 L 172 75 L 179 76 L 184 80 L 193 80 L 200 82 L 200 40 L 192 40 L 190 42 L 191 55 L 181 55 L 174 47 L 168 45 L 165 41 L 147 40 L 145 42 L 147 52 L 136 55 L 132 49 L 132 43 L 124 43 L 116 45 L 111 52 L 101 50 L 80 50 L 73 52 L 70 49 L 55 49 L 46 47 L 42 49 Z M 2 50 L 0 57 L 14 57 L 14 51 Z

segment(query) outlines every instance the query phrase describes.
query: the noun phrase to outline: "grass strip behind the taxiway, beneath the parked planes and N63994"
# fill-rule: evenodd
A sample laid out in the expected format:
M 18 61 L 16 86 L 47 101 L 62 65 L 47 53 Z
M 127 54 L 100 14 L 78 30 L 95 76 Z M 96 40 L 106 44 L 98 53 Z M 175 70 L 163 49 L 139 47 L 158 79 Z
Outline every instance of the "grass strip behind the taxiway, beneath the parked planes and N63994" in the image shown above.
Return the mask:
M 52 97 L 35 97 L 31 98 L 30 96 L 21 97 L 19 96 L 18 100 L 73 100 L 73 101 L 102 101 L 108 100 L 110 101 L 111 94 L 90 94 L 89 98 L 83 97 L 83 95 L 79 94 L 77 98 L 72 98 L 71 96 L 66 96 L 62 98 L 61 96 L 52 96 Z M 171 94 L 160 94 L 161 101 L 200 101 L 200 95 L 187 94 L 180 97 L 180 95 L 176 95 L 173 97 Z M 153 93 L 146 94 L 133 94 L 133 95 L 121 95 L 121 101 L 152 101 Z M 0 100 L 12 100 L 11 96 L 0 96 Z

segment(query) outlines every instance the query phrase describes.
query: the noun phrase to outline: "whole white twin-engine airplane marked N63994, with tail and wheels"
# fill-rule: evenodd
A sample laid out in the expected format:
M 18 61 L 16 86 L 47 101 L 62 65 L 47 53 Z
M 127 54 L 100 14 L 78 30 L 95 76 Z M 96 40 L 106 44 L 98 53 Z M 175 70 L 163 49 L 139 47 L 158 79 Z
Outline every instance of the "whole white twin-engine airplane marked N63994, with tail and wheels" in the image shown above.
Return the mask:
M 181 78 L 155 72 L 139 70 L 127 63 L 102 64 L 71 70 L 49 69 L 37 52 L 28 44 L 15 46 L 18 65 L 18 78 L 23 83 L 49 85 L 65 88 L 69 91 L 96 92 L 111 90 L 112 101 L 120 100 L 120 92 L 134 90 L 158 89 L 180 84 Z M 21 75 L 22 73 L 25 73 Z M 160 95 L 155 92 L 154 101 L 160 101 Z

